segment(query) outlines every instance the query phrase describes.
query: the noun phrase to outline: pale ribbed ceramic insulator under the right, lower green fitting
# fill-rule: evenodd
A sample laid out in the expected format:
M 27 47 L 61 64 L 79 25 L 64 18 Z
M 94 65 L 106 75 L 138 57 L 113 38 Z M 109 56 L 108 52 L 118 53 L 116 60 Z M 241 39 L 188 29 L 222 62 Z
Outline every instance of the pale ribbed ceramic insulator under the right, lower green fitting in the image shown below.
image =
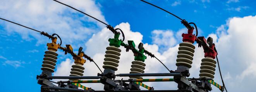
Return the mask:
M 142 61 L 132 61 L 130 74 L 142 74 L 144 73 L 146 64 Z M 141 76 L 129 76 L 130 79 L 143 79 Z

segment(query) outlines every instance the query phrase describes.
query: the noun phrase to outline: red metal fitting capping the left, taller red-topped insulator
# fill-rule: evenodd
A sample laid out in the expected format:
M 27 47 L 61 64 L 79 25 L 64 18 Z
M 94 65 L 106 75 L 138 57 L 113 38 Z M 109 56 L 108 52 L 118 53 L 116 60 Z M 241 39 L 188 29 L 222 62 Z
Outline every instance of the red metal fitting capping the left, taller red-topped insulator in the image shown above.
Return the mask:
M 193 30 L 194 29 L 187 30 L 187 34 L 183 33 L 181 35 L 183 37 L 182 39 L 183 42 L 191 42 L 192 44 L 195 42 L 196 36 L 192 34 Z

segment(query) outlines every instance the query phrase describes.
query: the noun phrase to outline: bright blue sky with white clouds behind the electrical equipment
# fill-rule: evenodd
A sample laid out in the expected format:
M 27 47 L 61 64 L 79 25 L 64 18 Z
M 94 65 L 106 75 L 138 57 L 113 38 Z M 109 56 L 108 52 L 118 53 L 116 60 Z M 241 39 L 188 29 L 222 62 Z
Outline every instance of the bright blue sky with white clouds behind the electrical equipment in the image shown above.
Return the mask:
M 107 39 L 113 38 L 113 34 L 105 28 L 105 25 L 52 0 L 1 1 L 0 18 L 49 34 L 56 33 L 62 38 L 63 46 L 71 44 L 76 53 L 81 46 L 99 66 L 103 65 L 105 48 L 108 46 Z M 256 78 L 254 67 L 256 49 L 253 43 L 256 39 L 254 0 L 146 1 L 188 22 L 196 23 L 199 28 L 198 36 L 211 36 L 214 39 L 228 91 L 254 90 L 253 84 Z M 176 69 L 178 44 L 182 42 L 181 34 L 187 31 L 178 18 L 139 0 L 60 0 L 60 2 L 84 11 L 115 28 L 121 28 L 125 33 L 125 42 L 134 40 L 136 45 L 143 42 L 145 49 L 155 54 L 169 69 Z M 39 92 L 40 85 L 37 84 L 36 75 L 41 74 L 43 55 L 47 50 L 46 44 L 51 43 L 51 40 L 33 30 L 0 20 L 0 43 L 2 43 L 0 78 L 4 81 L 19 81 L 14 83 L 15 89 L 22 92 Z M 121 49 L 122 55 L 117 73 L 128 73 L 134 57 L 131 52 L 126 53 L 123 47 Z M 195 50 L 190 77 L 199 77 L 201 59 L 204 58 L 202 48 Z M 57 53 L 59 56 L 55 66 L 56 72 L 53 75 L 68 76 L 74 60 L 71 55 L 64 55 L 60 50 Z M 146 73 L 167 72 L 156 59 L 148 57 L 145 63 Z M 100 72 L 89 61 L 84 67 L 85 76 L 96 76 Z M 215 81 L 222 85 L 218 69 L 215 71 Z M 101 84 L 84 85 L 103 90 Z M 177 89 L 177 85 L 173 82 L 149 82 L 147 85 L 159 90 Z M 6 83 L 0 86 L 3 87 L 3 91 L 13 89 L 13 86 Z M 212 88 L 211 92 L 220 92 L 215 87 Z

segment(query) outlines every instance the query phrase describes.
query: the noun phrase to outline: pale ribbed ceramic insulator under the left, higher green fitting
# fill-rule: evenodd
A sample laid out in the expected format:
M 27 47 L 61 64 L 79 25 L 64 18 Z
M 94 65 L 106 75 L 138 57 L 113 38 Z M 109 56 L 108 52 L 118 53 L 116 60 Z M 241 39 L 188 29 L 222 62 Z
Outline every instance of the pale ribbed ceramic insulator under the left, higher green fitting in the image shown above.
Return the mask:
M 110 69 L 113 71 L 117 71 L 117 67 L 119 66 L 119 59 L 120 59 L 120 52 L 121 49 L 115 47 L 115 46 L 108 46 L 107 51 L 105 52 L 104 62 L 103 62 L 103 68 L 104 69 Z

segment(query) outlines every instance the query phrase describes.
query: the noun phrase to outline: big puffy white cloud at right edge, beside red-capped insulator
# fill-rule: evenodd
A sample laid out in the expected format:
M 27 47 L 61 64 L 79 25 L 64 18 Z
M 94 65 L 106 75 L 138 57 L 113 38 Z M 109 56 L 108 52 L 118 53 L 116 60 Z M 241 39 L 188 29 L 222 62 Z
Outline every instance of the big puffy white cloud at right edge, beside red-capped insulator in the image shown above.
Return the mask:
M 256 16 L 245 16 L 243 18 L 230 18 L 227 24 L 221 25 L 217 30 L 216 49 L 218 51 L 218 59 L 220 60 L 220 68 L 224 76 L 224 82 L 229 91 L 253 91 L 249 89 L 250 84 L 253 84 L 251 79 L 256 78 L 256 64 L 254 60 L 254 39 L 256 33 Z M 214 34 L 213 36 L 216 39 Z M 217 71 L 217 70 L 216 70 Z M 215 71 L 215 72 L 216 72 Z M 217 75 L 216 75 L 217 76 Z M 230 78 L 232 76 L 232 78 Z M 219 76 L 216 77 L 220 79 Z M 232 82 L 231 80 L 240 79 L 240 81 Z M 216 81 L 216 79 L 215 79 Z M 221 81 L 219 81 L 221 82 Z M 245 84 L 241 87 L 237 84 Z M 238 88 L 239 89 L 231 89 Z

